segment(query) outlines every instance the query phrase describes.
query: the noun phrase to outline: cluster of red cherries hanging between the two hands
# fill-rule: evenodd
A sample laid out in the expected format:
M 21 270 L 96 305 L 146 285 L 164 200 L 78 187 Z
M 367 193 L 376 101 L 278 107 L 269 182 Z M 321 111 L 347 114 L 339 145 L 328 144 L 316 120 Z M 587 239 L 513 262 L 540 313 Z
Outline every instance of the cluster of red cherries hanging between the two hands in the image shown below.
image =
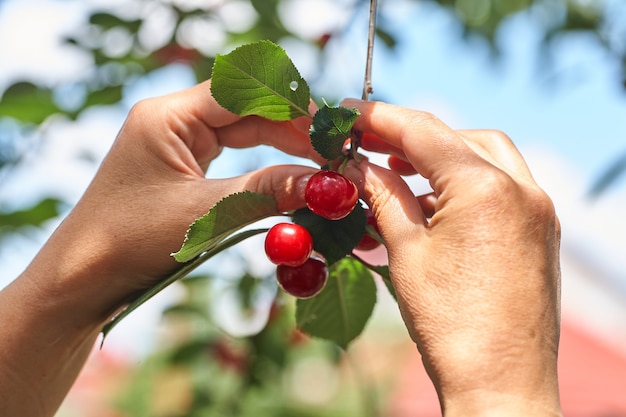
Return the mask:
M 339 220 L 354 210 L 359 192 L 356 185 L 336 171 L 322 170 L 307 182 L 304 198 L 309 210 L 328 220 Z M 376 228 L 371 211 L 366 210 L 367 222 Z M 380 243 L 367 233 L 355 249 L 371 250 Z M 280 287 L 298 298 L 313 297 L 328 280 L 326 262 L 313 251 L 309 231 L 295 223 L 278 223 L 265 237 L 265 253 L 277 265 L 276 278 Z

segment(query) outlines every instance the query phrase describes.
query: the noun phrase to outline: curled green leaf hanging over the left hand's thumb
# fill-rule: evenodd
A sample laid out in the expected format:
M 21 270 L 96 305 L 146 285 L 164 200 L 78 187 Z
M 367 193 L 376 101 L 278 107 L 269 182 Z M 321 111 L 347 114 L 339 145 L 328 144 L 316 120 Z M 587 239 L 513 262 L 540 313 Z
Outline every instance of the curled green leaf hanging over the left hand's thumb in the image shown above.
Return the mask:
M 271 196 L 251 191 L 231 194 L 189 227 L 182 247 L 172 256 L 187 262 L 242 227 L 277 213 L 276 200 Z

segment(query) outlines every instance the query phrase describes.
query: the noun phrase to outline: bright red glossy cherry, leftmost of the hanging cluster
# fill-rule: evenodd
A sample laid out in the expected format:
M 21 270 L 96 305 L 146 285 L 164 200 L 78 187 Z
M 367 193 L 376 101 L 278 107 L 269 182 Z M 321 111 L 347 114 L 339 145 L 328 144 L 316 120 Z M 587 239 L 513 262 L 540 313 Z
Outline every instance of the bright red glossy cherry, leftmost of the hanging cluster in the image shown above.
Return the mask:
M 313 238 L 299 224 L 275 224 L 265 236 L 265 254 L 276 265 L 300 266 L 312 251 Z

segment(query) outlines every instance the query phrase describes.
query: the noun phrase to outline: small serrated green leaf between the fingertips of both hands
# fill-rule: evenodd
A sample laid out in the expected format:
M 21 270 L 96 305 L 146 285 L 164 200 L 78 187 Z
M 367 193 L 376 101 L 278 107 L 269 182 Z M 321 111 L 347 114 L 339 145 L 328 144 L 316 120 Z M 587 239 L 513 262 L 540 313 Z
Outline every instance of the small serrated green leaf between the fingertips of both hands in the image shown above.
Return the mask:
M 357 109 L 321 107 L 313 116 L 309 131 L 313 148 L 329 161 L 339 158 L 358 116 Z

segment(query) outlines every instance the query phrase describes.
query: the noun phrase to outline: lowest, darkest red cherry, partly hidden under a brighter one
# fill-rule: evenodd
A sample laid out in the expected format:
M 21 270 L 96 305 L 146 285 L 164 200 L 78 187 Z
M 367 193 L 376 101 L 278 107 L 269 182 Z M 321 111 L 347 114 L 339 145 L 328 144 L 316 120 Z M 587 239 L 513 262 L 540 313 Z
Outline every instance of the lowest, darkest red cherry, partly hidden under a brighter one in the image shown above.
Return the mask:
M 298 298 L 310 298 L 322 291 L 328 280 L 326 262 L 311 257 L 296 267 L 278 265 L 276 279 L 288 294 Z

